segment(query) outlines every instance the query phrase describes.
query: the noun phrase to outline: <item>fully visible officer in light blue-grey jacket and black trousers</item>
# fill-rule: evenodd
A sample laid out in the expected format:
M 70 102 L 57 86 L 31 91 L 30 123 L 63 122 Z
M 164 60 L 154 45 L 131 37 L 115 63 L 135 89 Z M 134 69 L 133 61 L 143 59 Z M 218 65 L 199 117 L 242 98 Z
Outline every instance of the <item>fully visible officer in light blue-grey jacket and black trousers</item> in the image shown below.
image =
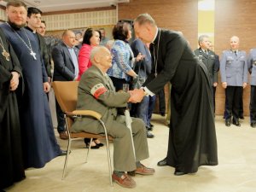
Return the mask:
M 247 58 L 246 52 L 239 48 L 239 38 L 230 38 L 230 49 L 224 50 L 220 60 L 220 74 L 222 86 L 225 89 L 225 125 L 232 123 L 241 126 L 239 122 L 242 91 L 247 86 Z

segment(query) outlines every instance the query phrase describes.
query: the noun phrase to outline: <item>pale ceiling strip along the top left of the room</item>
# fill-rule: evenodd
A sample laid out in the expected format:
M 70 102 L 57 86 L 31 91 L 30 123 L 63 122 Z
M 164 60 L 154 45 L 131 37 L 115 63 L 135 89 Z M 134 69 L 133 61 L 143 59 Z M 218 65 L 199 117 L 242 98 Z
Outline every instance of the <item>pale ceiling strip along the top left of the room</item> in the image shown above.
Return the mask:
M 0 0 L 0 4 L 6 5 L 8 0 Z M 116 6 L 118 3 L 129 3 L 130 0 L 23 0 L 28 7 L 36 7 L 43 12 L 90 9 Z

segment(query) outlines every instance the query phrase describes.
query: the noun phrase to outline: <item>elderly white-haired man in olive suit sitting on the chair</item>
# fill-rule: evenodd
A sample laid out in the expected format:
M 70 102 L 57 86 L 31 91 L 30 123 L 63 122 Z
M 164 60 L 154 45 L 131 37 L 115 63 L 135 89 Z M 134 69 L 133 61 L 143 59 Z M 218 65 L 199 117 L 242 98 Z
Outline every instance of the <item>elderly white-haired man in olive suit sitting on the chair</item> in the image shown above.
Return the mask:
M 132 91 L 116 92 L 107 75 L 112 66 L 112 55 L 103 46 L 91 50 L 90 67 L 79 82 L 77 109 L 94 110 L 102 114 L 108 135 L 113 140 L 113 181 L 125 188 L 134 188 L 135 181 L 131 176 L 136 174 L 152 175 L 153 168 L 148 168 L 140 160 L 148 158 L 146 128 L 142 119 L 132 118 L 131 130 L 135 147 L 135 156 L 131 144 L 131 132 L 125 125 L 125 116 L 117 113 L 117 108 L 125 108 L 127 102 L 135 100 Z M 90 117 L 76 119 L 72 131 L 102 133 L 102 126 Z M 136 159 L 135 159 L 136 158 Z M 126 173 L 127 172 L 127 173 Z

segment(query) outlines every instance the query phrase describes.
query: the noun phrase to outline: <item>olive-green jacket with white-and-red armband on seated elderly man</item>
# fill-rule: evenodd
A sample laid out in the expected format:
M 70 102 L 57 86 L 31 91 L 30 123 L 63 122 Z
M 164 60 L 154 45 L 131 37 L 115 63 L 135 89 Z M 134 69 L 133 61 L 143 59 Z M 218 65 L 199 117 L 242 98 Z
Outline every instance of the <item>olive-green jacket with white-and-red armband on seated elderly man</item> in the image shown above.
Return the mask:
M 113 120 L 117 118 L 117 108 L 125 108 L 130 98 L 129 93 L 116 92 L 108 75 L 103 74 L 96 66 L 92 66 L 84 72 L 79 81 L 78 92 L 77 109 L 101 113 L 107 130 L 111 127 Z M 72 131 L 101 133 L 103 128 L 96 119 L 83 117 L 76 119 Z

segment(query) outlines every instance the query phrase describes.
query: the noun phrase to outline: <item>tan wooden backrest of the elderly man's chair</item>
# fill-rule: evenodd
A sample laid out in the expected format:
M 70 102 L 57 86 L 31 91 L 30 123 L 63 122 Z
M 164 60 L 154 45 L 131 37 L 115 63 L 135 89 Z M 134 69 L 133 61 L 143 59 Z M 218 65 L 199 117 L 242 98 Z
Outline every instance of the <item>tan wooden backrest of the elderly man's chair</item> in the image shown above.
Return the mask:
M 79 81 L 54 81 L 52 87 L 62 112 L 73 112 L 77 107 Z

